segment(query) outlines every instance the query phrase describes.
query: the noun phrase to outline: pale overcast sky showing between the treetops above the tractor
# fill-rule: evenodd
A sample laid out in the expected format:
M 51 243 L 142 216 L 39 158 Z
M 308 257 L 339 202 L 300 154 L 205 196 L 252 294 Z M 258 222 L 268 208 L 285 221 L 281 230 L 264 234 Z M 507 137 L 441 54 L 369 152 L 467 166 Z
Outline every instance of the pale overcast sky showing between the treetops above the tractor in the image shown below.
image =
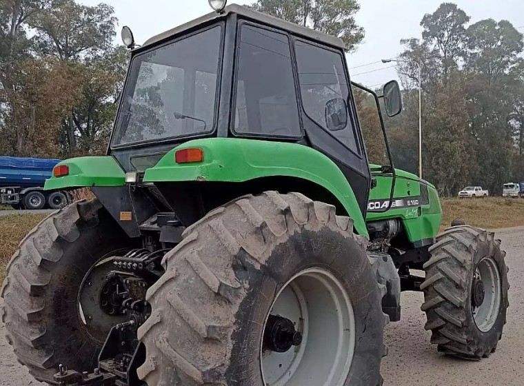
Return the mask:
M 79 0 L 89 6 L 100 0 Z M 130 26 L 137 43 L 143 43 L 158 34 L 185 21 L 210 12 L 207 0 L 105 0 L 114 7 L 120 26 Z M 229 1 L 229 3 L 251 3 Z M 385 83 L 396 79 L 390 64 L 373 63 L 382 58 L 395 57 L 401 52 L 400 40 L 419 37 L 420 21 L 424 14 L 432 13 L 443 0 L 360 0 L 361 10 L 356 14 L 359 26 L 365 28 L 365 39 L 358 50 L 348 57 L 354 81 L 366 85 Z M 509 20 L 524 32 L 523 0 L 456 0 L 472 22 L 492 18 Z M 118 39 L 119 36 L 117 37 Z M 378 71 L 375 71 L 378 70 Z M 373 71 L 373 72 L 370 72 Z M 362 74 L 368 72 L 367 74 Z

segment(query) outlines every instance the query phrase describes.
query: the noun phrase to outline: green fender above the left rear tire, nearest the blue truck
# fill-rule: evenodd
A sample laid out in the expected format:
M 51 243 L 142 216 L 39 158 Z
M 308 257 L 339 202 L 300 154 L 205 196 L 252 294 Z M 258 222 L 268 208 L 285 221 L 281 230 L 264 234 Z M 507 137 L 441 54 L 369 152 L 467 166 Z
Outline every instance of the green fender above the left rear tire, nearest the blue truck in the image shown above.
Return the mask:
M 62 161 L 59 165 L 69 166 L 68 176 L 52 176 L 46 181 L 46 190 L 125 184 L 125 173 L 112 156 L 72 158 Z

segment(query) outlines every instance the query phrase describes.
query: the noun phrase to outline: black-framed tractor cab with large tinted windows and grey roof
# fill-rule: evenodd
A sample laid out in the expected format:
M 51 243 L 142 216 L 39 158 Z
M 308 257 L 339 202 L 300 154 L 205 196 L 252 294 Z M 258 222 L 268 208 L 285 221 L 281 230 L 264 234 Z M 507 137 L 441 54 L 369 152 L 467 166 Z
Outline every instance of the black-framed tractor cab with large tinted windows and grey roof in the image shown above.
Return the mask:
M 384 97 L 398 114 L 396 82 Z M 143 173 L 177 145 L 211 138 L 318 150 L 365 213 L 370 167 L 341 39 L 232 5 L 134 48 L 109 154 Z

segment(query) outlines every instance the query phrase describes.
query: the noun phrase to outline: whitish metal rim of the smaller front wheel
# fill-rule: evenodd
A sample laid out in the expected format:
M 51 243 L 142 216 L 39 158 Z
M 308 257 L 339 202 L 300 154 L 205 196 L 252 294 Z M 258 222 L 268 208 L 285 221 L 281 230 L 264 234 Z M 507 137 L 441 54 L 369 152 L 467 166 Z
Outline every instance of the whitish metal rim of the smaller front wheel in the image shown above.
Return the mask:
M 488 332 L 494 326 L 501 308 L 501 275 L 491 257 L 483 258 L 474 273 L 472 313 L 476 327 Z

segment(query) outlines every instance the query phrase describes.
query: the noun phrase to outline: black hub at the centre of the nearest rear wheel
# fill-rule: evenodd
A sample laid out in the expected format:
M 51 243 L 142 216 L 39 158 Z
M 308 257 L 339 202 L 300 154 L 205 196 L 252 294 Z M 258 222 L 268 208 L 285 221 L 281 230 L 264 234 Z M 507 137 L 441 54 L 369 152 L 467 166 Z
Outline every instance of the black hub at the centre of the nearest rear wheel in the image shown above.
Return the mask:
M 294 328 L 289 319 L 270 315 L 264 330 L 264 349 L 274 352 L 288 352 L 293 346 L 302 343 L 302 334 Z

